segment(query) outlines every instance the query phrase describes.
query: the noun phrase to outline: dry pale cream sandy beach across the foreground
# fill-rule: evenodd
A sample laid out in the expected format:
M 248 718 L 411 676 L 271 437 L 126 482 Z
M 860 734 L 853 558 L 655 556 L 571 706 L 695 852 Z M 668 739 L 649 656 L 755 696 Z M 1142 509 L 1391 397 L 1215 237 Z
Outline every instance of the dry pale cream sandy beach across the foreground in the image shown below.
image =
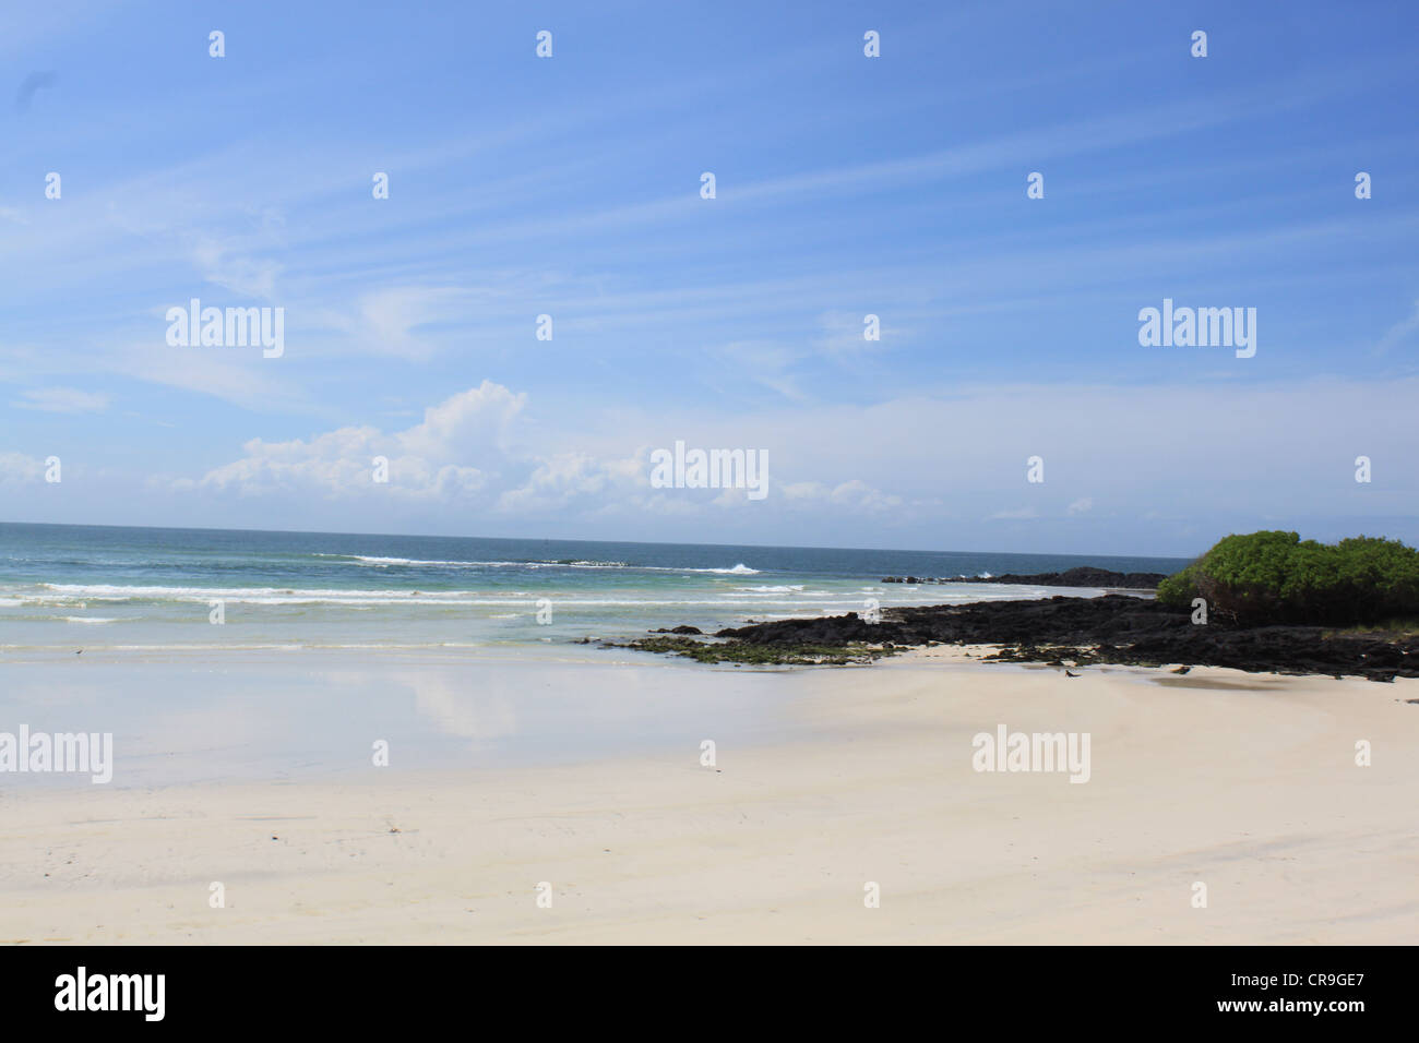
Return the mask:
M 948 661 L 949 660 L 949 661 Z M 795 671 L 795 741 L 352 780 L 0 789 L 4 942 L 1412 942 L 1419 681 Z M 788 680 L 788 678 L 785 678 Z M 673 698 L 674 692 L 667 692 Z M 1088 732 L 1091 778 L 972 769 Z M 1374 765 L 1355 766 L 1355 742 Z M 209 905 L 221 881 L 226 907 Z M 552 884 L 539 908 L 536 885 Z M 881 888 L 864 907 L 864 884 Z M 1193 884 L 1208 907 L 1193 908 Z

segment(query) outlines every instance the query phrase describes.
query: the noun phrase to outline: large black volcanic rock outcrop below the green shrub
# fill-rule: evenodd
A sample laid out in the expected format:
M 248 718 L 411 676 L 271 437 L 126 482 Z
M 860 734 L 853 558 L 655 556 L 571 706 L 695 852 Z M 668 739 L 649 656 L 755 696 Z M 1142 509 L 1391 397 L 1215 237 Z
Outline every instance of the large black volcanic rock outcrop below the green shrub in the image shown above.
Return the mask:
M 1156 666 L 1185 663 L 1290 674 L 1351 674 L 1374 681 L 1419 677 L 1419 639 L 1327 636 L 1323 627 L 1195 626 L 1191 613 L 1128 595 L 888 609 L 731 627 L 715 637 L 751 644 L 999 644 L 1003 658 Z

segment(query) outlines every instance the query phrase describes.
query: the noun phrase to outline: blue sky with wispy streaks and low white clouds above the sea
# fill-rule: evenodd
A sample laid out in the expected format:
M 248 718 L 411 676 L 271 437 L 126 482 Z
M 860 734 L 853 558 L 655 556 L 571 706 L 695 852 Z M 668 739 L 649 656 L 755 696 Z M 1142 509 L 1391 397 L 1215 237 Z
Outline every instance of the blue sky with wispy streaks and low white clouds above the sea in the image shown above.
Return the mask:
M 1419 542 L 1419 6 L 55 0 L 0 67 L 0 521 Z

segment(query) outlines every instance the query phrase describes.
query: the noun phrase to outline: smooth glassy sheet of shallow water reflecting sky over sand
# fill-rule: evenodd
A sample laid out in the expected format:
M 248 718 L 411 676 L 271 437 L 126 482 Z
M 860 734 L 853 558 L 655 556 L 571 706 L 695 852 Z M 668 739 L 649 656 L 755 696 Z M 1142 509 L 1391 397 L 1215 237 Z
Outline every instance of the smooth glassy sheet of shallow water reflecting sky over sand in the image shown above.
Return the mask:
M 112 779 L 0 773 L 0 790 L 477 771 L 800 738 L 785 670 L 538 650 L 99 651 L 0 663 L 0 732 L 111 734 Z M 843 673 L 843 671 L 837 671 Z M 375 744 L 387 766 L 375 766 Z

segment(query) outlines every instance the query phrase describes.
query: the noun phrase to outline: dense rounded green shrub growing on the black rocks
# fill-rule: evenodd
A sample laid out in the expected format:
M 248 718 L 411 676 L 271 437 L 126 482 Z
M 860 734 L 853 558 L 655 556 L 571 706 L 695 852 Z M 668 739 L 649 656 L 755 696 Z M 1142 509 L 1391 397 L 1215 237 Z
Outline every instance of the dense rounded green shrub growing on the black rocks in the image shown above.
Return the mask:
M 1158 600 L 1208 602 L 1223 620 L 1348 626 L 1419 612 L 1419 551 L 1398 539 L 1355 536 L 1338 543 L 1294 532 L 1220 539 L 1158 585 Z

